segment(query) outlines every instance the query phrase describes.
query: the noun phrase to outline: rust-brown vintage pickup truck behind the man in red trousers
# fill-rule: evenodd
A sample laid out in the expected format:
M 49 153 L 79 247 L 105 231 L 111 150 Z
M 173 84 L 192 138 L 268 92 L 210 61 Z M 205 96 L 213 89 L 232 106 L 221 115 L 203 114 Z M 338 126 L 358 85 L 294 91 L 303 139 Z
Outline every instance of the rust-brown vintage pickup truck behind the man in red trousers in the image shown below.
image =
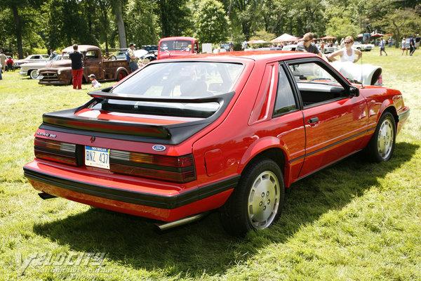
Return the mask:
M 39 84 L 72 84 L 72 61 L 69 59 L 69 53 L 72 51 L 72 46 L 64 48 L 62 60 L 48 63 L 46 67 L 41 68 Z M 79 52 L 83 53 L 83 82 L 89 81 L 90 74 L 95 74 L 98 81 L 119 81 L 131 73 L 127 60 L 116 60 L 114 56 L 104 59 L 97 46 L 79 45 Z

